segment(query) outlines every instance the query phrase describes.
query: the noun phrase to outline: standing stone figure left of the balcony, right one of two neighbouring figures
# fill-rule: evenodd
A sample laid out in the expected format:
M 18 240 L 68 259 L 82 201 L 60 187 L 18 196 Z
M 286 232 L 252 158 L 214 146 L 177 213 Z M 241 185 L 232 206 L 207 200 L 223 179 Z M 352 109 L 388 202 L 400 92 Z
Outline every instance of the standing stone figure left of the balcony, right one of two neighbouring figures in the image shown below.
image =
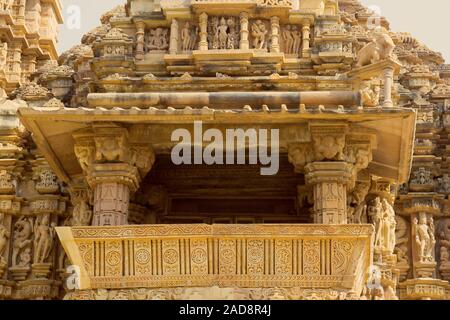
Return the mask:
M 34 228 L 34 263 L 44 263 L 53 248 L 54 223 L 50 225 L 48 215 L 44 215 Z

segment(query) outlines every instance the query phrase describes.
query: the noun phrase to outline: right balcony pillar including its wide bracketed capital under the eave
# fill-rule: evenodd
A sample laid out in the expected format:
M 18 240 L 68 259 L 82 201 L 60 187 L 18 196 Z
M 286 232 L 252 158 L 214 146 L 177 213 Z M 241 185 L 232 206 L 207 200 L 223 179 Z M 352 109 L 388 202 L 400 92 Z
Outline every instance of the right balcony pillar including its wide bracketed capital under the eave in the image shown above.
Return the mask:
M 376 139 L 344 123 L 311 123 L 310 132 L 310 142 L 289 145 L 289 162 L 296 172 L 305 173 L 306 184 L 312 186 L 314 223 L 347 224 L 347 193 L 355 189 L 358 173 L 372 161 Z

